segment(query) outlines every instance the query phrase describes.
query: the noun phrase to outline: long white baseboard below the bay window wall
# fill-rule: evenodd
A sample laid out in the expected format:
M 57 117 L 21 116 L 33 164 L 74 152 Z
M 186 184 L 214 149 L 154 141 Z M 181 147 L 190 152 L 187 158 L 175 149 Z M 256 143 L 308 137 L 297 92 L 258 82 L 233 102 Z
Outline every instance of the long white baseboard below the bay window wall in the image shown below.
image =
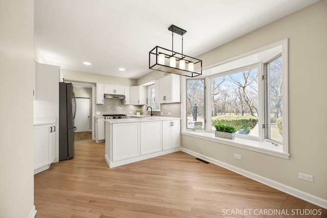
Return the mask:
M 325 200 L 325 199 L 319 198 L 317 196 L 313 196 L 313 195 L 311 195 L 309 193 L 306 193 L 306 192 L 298 190 L 296 188 L 293 188 L 293 187 L 284 185 L 282 183 L 273 181 L 271 179 L 267 179 L 265 177 L 253 174 L 251 172 L 245 171 L 244 169 L 232 166 L 230 164 L 221 162 L 221 161 L 213 159 L 211 157 L 207 157 L 207 156 L 199 154 L 197 152 L 193 152 L 191 150 L 184 149 L 184 148 L 181 148 L 181 151 L 185 152 L 185 153 L 188 153 L 190 155 L 193 155 L 195 157 L 201 158 L 203 160 L 206 160 L 206 161 L 208 161 L 210 163 L 216 164 L 218 166 L 221 166 L 223 168 L 229 169 L 232 172 L 235 172 L 235 173 L 240 174 L 242 176 L 245 176 L 247 178 L 253 179 L 253 180 L 257 181 L 257 182 L 263 183 L 263 184 L 268 185 L 268 186 L 270 186 L 272 188 L 275 188 L 277 190 L 288 193 L 289 195 L 294 196 L 296 198 L 302 199 L 304 201 L 310 202 L 310 203 L 315 204 L 315 205 L 317 205 L 319 207 L 327 209 L 327 200 Z

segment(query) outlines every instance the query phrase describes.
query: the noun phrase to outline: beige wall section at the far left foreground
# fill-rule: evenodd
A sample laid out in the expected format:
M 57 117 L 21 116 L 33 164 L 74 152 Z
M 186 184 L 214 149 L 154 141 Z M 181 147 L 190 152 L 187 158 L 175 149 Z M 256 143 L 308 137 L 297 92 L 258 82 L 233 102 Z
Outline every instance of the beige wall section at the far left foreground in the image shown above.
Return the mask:
M 34 212 L 34 1 L 1 1 L 0 28 L 0 217 L 25 218 Z

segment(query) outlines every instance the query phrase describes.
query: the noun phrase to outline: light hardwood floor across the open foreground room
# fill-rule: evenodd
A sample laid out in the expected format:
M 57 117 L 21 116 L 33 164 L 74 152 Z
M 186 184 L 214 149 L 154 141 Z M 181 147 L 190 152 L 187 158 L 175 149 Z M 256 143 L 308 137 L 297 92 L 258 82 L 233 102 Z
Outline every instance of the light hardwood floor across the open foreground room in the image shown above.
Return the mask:
M 76 141 L 75 149 L 73 159 L 35 175 L 36 218 L 327 217 L 325 209 L 183 152 L 110 169 L 104 143 Z

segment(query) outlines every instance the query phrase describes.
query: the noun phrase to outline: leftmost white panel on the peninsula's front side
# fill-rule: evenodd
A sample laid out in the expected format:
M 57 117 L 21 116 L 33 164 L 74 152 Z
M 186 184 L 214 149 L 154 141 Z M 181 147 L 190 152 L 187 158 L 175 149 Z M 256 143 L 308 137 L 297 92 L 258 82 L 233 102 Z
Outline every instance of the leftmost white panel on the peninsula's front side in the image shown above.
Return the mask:
M 112 124 L 112 161 L 140 155 L 139 127 L 139 122 Z

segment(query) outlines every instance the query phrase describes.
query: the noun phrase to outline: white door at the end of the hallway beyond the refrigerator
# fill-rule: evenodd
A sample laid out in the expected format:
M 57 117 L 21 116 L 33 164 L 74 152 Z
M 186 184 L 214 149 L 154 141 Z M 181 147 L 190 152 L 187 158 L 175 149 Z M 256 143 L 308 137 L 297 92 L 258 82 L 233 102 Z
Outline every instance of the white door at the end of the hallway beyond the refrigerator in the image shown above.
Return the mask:
M 75 132 L 90 131 L 90 99 L 76 98 Z

